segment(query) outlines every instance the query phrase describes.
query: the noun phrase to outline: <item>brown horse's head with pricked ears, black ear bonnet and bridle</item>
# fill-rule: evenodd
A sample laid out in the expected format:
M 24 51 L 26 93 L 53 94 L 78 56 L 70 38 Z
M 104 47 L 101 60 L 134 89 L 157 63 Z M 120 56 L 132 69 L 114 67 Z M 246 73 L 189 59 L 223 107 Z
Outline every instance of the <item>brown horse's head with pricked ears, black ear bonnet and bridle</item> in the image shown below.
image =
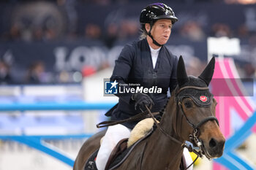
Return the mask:
M 212 58 L 199 77 L 187 76 L 183 58 L 178 60 L 175 91 L 178 114 L 182 115 L 181 138 L 192 142 L 207 158 L 222 156 L 225 138 L 215 117 L 217 101 L 208 90 L 214 74 L 215 58 Z

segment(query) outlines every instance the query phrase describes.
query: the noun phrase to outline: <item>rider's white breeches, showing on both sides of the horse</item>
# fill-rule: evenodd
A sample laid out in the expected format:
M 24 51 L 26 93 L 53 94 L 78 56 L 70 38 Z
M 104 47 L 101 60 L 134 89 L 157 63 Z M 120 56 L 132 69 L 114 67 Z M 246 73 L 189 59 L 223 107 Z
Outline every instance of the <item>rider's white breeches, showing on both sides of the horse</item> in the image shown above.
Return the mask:
M 108 157 L 110 156 L 110 153 L 112 152 L 114 147 L 116 147 L 116 144 L 121 139 L 129 138 L 130 134 L 131 134 L 131 129 L 121 124 L 112 125 L 108 127 L 108 130 L 102 139 L 102 144 L 99 147 L 99 152 L 97 155 L 97 159 L 95 161 L 98 170 L 105 169 L 105 166 L 108 161 Z M 187 148 L 184 148 L 183 155 L 186 160 L 187 166 L 189 166 L 192 163 L 192 158 Z M 192 170 L 192 169 L 193 169 L 193 166 L 189 168 L 189 170 Z

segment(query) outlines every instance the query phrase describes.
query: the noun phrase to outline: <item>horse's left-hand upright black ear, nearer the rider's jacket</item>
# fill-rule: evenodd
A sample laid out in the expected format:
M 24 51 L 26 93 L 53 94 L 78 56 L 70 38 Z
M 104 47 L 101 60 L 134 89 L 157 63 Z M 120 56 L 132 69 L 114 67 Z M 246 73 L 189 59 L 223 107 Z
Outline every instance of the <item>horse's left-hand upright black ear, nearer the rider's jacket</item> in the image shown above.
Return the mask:
M 184 60 L 182 56 L 178 58 L 178 66 L 177 66 L 177 81 L 178 81 L 178 87 L 181 88 L 182 85 L 184 85 L 185 82 L 187 82 L 187 72 L 184 64 Z

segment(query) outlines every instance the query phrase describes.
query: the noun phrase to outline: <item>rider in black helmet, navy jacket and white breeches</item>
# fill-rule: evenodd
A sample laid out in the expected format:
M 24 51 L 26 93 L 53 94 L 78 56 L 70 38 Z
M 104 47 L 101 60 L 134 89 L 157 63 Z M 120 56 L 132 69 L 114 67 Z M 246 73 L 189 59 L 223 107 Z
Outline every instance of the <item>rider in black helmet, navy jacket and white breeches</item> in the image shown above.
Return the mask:
M 116 94 L 119 101 L 116 109 L 110 112 L 111 120 L 124 120 L 141 111 L 159 112 L 167 102 L 167 90 L 176 88 L 176 67 L 178 58 L 170 53 L 165 43 L 170 37 L 173 24 L 176 23 L 173 9 L 166 4 L 148 5 L 140 13 L 140 24 L 143 31 L 140 40 L 131 45 L 125 45 L 121 51 L 111 81 L 119 85 L 140 85 L 143 88 L 161 88 L 161 93 L 126 93 Z M 109 126 L 102 139 L 97 155 L 96 166 L 104 170 L 108 157 L 116 144 L 128 138 L 130 131 L 138 121 Z M 191 159 L 191 158 L 190 158 Z

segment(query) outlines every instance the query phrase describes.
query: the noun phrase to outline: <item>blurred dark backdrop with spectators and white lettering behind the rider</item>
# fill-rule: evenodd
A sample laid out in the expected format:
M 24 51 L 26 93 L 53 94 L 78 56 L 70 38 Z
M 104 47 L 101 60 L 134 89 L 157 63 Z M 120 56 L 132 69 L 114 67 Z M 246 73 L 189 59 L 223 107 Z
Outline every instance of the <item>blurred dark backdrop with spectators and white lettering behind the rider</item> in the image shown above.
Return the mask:
M 113 66 L 126 43 L 138 39 L 141 9 L 153 1 L 1 1 L 0 58 L 13 82 L 26 83 L 26 74 L 41 62 L 58 82 L 61 72 L 95 71 Z M 164 1 L 178 22 L 167 43 L 175 55 L 207 59 L 207 37 L 241 40 L 241 55 L 230 56 L 242 68 L 255 69 L 256 6 L 222 1 Z M 1 67 L 0 67 L 1 68 Z M 72 81 L 71 81 L 72 82 Z

